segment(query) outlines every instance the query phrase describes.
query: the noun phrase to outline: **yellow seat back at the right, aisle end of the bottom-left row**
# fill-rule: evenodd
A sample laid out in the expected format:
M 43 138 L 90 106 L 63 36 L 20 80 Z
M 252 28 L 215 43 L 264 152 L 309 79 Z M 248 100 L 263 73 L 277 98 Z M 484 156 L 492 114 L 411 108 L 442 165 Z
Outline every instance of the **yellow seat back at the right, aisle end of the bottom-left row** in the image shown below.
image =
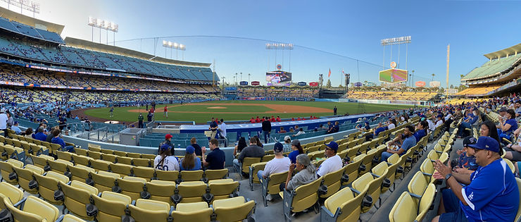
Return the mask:
M 255 202 L 244 202 L 244 197 L 219 199 L 213 202 L 217 221 L 243 221 L 255 209 Z

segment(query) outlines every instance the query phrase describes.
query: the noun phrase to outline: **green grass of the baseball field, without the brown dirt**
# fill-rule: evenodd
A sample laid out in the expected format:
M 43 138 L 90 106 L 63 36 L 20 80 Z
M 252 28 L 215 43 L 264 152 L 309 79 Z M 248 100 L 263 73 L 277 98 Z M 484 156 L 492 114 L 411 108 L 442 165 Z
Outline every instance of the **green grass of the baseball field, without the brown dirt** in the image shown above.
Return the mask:
M 201 103 L 198 103 L 201 104 Z M 196 121 L 196 123 L 206 123 L 212 117 L 224 118 L 227 121 L 237 120 L 248 120 L 252 116 L 280 116 L 280 118 L 292 118 L 292 117 L 309 117 L 309 116 L 331 116 L 333 114 L 333 107 L 337 106 L 337 113 L 339 115 L 344 113 L 356 114 L 356 113 L 373 113 L 379 111 L 390 111 L 396 109 L 407 109 L 412 106 L 404 105 L 389 105 L 389 104 L 358 104 L 358 103 L 337 103 L 337 102 L 322 102 L 322 101 L 211 101 L 203 102 L 202 104 L 207 105 L 191 105 L 183 104 L 179 107 L 170 107 L 168 109 L 168 118 L 163 117 L 164 105 L 156 106 L 156 120 L 166 121 Z M 230 105 L 226 104 L 243 104 L 243 105 Z M 294 106 L 308 106 L 331 109 L 330 112 L 323 113 L 306 113 L 306 107 L 302 107 L 302 113 L 272 113 L 272 109 L 265 106 L 253 106 L 253 104 L 282 104 L 282 105 L 294 105 Z M 176 104 L 168 105 L 175 106 Z M 210 106 L 222 106 L 226 109 L 208 109 Z M 137 121 L 139 112 L 130 112 L 130 110 L 141 110 L 146 121 L 145 107 L 116 107 L 114 109 L 114 116 L 109 118 L 109 108 L 100 109 L 89 109 L 85 111 L 88 116 L 94 116 L 98 118 L 106 118 L 115 121 L 122 121 L 125 123 L 132 123 Z M 211 112 L 211 113 L 173 113 L 172 111 L 185 111 L 185 112 Z M 224 113 L 224 112 L 239 112 L 239 113 Z M 265 113 L 268 112 L 268 113 Z

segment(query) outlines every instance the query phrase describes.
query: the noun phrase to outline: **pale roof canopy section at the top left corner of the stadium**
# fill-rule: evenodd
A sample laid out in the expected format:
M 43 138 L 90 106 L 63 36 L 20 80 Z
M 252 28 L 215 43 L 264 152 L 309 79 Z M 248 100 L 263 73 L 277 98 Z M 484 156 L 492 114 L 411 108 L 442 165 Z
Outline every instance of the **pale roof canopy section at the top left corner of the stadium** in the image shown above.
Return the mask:
M 7 8 L 0 7 L 0 17 L 8 18 L 9 20 L 14 20 L 18 23 L 22 23 L 25 25 L 29 25 L 32 27 L 37 27 L 41 30 L 47 30 L 49 32 L 56 32 L 58 35 L 61 35 L 63 31 L 63 25 L 58 25 L 56 23 L 49 23 L 44 20 L 39 20 L 37 18 L 32 18 L 30 16 L 25 16 L 20 13 L 15 13 L 14 11 L 8 10 Z

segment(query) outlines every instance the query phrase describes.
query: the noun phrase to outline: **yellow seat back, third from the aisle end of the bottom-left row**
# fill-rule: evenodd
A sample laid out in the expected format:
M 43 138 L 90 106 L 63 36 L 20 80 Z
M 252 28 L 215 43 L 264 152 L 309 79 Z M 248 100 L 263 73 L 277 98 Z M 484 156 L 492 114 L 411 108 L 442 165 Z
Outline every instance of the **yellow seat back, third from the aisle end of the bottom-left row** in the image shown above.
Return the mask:
M 128 205 L 130 216 L 136 222 L 166 221 L 170 213 L 170 205 L 151 199 L 137 199 L 136 205 Z

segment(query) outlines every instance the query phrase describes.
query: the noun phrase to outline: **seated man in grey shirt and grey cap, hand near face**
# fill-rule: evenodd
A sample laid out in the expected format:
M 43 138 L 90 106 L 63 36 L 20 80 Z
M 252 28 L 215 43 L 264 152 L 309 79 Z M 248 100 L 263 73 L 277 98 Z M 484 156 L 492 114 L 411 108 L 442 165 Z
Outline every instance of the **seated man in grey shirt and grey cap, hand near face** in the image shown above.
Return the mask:
M 299 171 L 295 176 L 293 175 L 293 171 Z M 286 183 L 280 184 L 280 191 L 286 190 L 294 190 L 301 185 L 306 185 L 311 183 L 317 179 L 317 174 L 315 173 L 315 165 L 311 164 L 309 156 L 306 154 L 299 154 L 296 156 L 296 164 L 291 164 L 289 166 L 288 177 L 286 178 Z

